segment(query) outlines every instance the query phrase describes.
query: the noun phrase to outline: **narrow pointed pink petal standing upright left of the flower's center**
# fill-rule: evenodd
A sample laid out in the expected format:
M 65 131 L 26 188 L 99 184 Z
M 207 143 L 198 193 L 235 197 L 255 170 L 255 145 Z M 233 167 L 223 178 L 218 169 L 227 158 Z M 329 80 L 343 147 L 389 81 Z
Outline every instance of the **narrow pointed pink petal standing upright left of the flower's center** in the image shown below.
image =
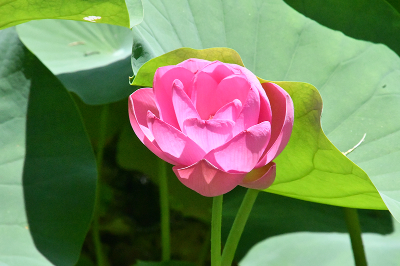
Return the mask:
M 178 79 L 172 83 L 172 103 L 180 130 L 183 129 L 183 121 L 187 117 L 200 118 L 193 103 L 184 93 L 182 82 Z

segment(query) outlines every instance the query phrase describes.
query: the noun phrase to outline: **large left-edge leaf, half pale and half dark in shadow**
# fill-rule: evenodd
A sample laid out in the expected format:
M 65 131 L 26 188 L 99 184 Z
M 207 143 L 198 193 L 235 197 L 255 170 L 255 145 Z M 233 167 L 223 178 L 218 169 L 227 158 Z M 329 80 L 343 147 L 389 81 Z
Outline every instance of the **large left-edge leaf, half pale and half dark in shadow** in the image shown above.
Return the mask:
M 68 92 L 13 28 L 0 50 L 0 262 L 74 265 L 94 206 L 90 142 Z

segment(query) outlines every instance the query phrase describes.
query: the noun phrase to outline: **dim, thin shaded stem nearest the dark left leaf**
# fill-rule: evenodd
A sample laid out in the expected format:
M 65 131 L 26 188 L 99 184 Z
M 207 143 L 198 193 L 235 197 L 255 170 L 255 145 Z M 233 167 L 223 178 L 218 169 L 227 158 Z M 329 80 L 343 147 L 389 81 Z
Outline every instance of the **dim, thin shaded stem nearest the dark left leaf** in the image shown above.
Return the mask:
M 107 259 L 105 258 L 100 240 L 100 233 L 98 229 L 98 219 L 99 219 L 99 205 L 100 205 L 100 181 L 102 176 L 102 165 L 103 165 L 103 154 L 105 146 L 105 135 L 107 129 L 107 119 L 108 119 L 108 104 L 104 105 L 101 109 L 100 114 L 100 128 L 97 139 L 97 149 L 96 149 L 96 163 L 97 163 L 97 182 L 96 182 L 96 198 L 93 212 L 93 222 L 91 227 L 91 234 L 93 237 L 94 250 L 96 254 L 97 266 L 107 266 Z

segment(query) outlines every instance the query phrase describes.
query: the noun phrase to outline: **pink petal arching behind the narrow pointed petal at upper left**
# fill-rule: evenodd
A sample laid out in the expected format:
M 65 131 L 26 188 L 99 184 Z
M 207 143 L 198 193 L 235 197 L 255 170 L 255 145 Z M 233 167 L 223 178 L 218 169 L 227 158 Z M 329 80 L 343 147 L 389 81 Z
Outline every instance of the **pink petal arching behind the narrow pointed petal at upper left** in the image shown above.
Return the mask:
M 175 79 L 180 80 L 184 92 L 190 95 L 193 76 L 194 74 L 189 70 L 174 65 L 159 67 L 155 71 L 153 93 L 160 119 L 175 128 L 178 128 L 179 125 L 172 105 L 172 83 Z

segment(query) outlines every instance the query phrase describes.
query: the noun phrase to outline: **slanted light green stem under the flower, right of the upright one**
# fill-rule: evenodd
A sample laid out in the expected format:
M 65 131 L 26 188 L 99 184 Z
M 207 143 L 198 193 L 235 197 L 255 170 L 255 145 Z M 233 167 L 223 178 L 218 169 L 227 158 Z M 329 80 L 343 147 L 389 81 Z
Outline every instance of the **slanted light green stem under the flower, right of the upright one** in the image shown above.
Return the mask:
M 248 189 L 246 195 L 244 195 L 239 211 L 237 212 L 232 228 L 230 229 L 225 247 L 223 248 L 221 258 L 222 266 L 230 266 L 232 264 L 237 244 L 239 244 L 241 233 L 243 233 L 248 215 L 250 214 L 251 208 L 257 198 L 258 192 L 259 190 Z

